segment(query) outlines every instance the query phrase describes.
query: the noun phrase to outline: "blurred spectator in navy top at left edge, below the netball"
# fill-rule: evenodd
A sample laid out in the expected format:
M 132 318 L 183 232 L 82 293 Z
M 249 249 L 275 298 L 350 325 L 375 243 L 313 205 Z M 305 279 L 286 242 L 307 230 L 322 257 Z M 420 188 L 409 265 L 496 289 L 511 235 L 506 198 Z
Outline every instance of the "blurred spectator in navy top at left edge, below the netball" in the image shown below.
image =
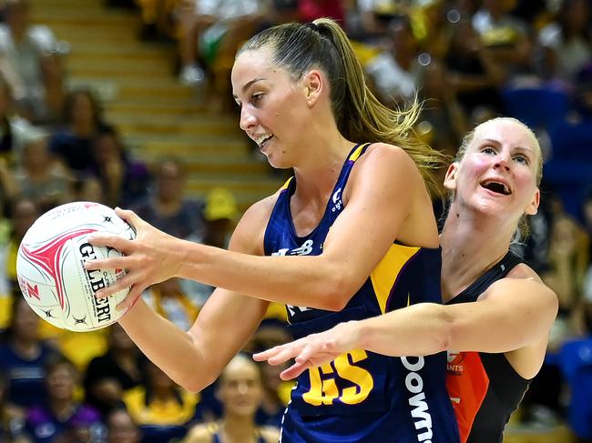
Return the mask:
M 42 404 L 46 398 L 44 367 L 57 352 L 39 339 L 41 318 L 24 297 L 14 298 L 10 326 L 0 344 L 0 370 L 8 379 L 8 400 L 20 408 Z

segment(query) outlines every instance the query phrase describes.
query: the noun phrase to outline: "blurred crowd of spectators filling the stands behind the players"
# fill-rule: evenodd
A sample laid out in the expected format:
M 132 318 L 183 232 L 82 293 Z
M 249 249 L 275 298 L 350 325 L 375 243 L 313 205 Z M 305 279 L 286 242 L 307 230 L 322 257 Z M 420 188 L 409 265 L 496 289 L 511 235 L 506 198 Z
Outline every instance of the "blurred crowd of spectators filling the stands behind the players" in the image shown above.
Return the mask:
M 374 94 L 424 105 L 416 134 L 455 155 L 492 116 L 531 126 L 545 154 L 542 204 L 515 250 L 559 297 L 546 363 L 516 420 L 561 423 L 592 441 L 592 1 L 106 0 L 137 11 L 138 39 L 177 48 L 171 76 L 212 114 L 236 112 L 230 69 L 250 35 L 328 16 L 352 38 Z M 30 20 L 28 0 L 0 2 L 0 442 L 277 439 L 290 384 L 278 367 L 237 357 L 199 394 L 141 357 L 121 327 L 50 327 L 15 282 L 16 250 L 47 209 L 88 200 L 125 206 L 176 237 L 225 247 L 240 216 L 224 188 L 188 197 L 184 165 L 133 158 L 91 88 L 71 89 L 69 45 Z M 442 213 L 443 204 L 434 201 Z M 145 297 L 184 329 L 211 287 L 168 280 Z M 289 340 L 272 306 L 245 352 Z M 199 370 L 199 368 L 196 368 Z M 242 428 L 241 428 L 242 427 Z M 190 430 L 189 430 L 190 429 Z M 238 434 L 240 435 L 240 434 Z M 242 434 L 246 435 L 246 434 Z M 209 439 L 208 439 L 209 438 Z

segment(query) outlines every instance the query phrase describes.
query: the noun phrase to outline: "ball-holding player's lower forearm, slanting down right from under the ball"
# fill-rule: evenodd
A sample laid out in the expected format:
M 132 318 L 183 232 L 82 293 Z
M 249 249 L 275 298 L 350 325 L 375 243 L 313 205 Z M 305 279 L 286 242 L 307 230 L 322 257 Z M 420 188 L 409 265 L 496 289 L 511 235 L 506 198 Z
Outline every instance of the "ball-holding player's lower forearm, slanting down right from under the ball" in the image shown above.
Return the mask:
M 194 338 L 158 316 L 141 298 L 119 324 L 139 349 L 183 388 L 197 391 L 217 377 Z

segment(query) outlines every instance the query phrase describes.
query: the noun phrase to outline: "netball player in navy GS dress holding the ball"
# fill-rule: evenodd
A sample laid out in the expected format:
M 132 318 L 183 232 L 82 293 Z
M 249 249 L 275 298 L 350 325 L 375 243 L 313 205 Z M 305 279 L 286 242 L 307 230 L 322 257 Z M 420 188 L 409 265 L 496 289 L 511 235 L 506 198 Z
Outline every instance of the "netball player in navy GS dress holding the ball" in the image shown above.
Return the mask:
M 349 319 L 441 300 L 431 199 L 443 158 L 413 137 L 418 109 L 397 113 L 372 96 L 342 29 L 330 20 L 254 36 L 232 70 L 240 127 L 270 165 L 294 176 L 240 220 L 230 251 L 182 241 L 119 211 L 137 230 L 100 236 L 127 257 L 91 267 L 129 270 L 105 296 L 132 289 L 120 324 L 179 384 L 211 383 L 259 325 L 285 303 L 301 337 Z M 424 178 L 424 179 L 423 179 Z M 266 256 L 266 257 L 261 257 Z M 217 287 L 189 332 L 138 298 L 172 276 Z M 284 415 L 291 442 L 455 442 L 445 354 L 384 357 L 350 350 L 301 375 Z

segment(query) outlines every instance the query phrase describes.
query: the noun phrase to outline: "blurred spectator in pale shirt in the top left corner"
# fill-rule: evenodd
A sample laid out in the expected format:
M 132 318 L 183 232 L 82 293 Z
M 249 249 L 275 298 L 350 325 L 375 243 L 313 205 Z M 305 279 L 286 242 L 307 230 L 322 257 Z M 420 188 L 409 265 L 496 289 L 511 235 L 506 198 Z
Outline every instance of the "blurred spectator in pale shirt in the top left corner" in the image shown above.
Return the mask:
M 55 121 L 63 101 L 63 74 L 54 33 L 30 24 L 28 0 L 5 1 L 5 24 L 0 24 L 0 56 L 22 88 L 19 107 L 35 122 Z

